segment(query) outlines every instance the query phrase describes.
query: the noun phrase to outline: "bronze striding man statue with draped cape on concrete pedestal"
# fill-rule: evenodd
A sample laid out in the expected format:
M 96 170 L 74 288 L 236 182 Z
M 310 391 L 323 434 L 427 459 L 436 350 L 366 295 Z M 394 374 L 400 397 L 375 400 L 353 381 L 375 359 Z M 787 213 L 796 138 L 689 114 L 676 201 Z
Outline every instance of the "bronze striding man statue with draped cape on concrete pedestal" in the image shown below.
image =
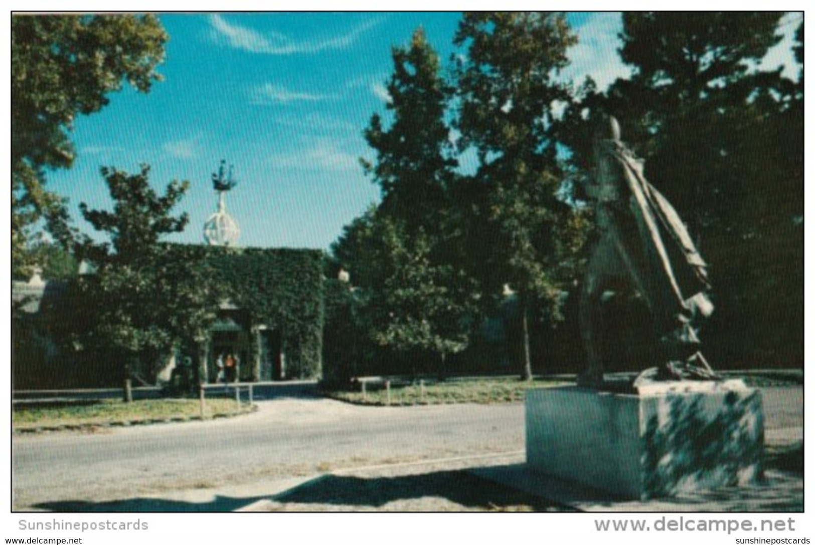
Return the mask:
M 588 368 L 580 386 L 601 387 L 601 295 L 619 281 L 636 289 L 652 316 L 656 379 L 714 378 L 698 350 L 695 326 L 710 316 L 707 265 L 667 199 L 643 176 L 643 164 L 620 141 L 619 124 L 603 120 L 594 137 L 596 172 L 586 193 L 595 202 L 600 238 L 580 299 Z

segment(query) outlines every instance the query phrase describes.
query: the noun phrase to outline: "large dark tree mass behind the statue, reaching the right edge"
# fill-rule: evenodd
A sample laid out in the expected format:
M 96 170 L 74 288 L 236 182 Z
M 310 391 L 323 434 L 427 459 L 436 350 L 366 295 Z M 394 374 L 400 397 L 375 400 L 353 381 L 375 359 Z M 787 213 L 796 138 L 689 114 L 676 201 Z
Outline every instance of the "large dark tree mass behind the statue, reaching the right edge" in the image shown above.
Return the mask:
M 605 94 L 583 89 L 561 133 L 575 168 L 588 173 L 593 120 L 618 116 L 623 140 L 710 264 L 717 310 L 704 337 L 716 364 L 803 359 L 794 303 L 803 282 L 803 74 L 794 82 L 757 68 L 778 43 L 780 18 L 623 15 L 620 54 L 632 78 Z M 802 40 L 799 31 L 799 63 Z

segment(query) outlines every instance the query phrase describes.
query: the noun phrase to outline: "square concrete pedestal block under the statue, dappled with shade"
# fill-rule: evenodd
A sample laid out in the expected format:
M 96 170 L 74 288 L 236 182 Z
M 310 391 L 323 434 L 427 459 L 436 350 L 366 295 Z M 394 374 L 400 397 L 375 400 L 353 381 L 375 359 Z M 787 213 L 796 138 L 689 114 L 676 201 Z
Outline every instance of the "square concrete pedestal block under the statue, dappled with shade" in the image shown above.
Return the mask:
M 760 391 L 744 386 L 641 395 L 566 386 L 526 394 L 528 468 L 619 498 L 753 482 L 763 451 Z

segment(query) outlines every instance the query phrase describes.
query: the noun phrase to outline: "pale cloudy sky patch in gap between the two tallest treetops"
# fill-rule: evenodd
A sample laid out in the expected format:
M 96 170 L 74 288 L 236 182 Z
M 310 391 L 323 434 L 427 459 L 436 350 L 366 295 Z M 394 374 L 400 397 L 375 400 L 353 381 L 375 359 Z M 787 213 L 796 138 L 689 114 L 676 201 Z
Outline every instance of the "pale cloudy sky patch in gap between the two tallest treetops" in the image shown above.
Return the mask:
M 571 64 L 562 72 L 566 80 L 575 83 L 591 76 L 597 82 L 597 89 L 603 91 L 617 78 L 628 77 L 631 69 L 619 59 L 618 34 L 623 30 L 623 19 L 619 13 L 593 13 L 586 22 L 575 27 L 578 43 L 569 52 Z

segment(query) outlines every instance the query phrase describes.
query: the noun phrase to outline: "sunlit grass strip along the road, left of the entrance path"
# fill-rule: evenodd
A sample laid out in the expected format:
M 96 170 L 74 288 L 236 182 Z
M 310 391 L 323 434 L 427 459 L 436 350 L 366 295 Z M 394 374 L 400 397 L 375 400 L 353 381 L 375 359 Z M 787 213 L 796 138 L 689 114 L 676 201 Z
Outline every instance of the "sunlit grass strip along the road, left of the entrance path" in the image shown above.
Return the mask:
M 240 410 L 234 399 L 207 399 L 208 418 L 234 416 L 250 412 L 242 403 Z M 93 402 L 18 403 L 11 421 L 15 431 L 32 429 L 81 428 L 102 425 L 139 425 L 168 421 L 188 421 L 200 418 L 197 399 L 144 399 L 123 403 L 117 399 Z

